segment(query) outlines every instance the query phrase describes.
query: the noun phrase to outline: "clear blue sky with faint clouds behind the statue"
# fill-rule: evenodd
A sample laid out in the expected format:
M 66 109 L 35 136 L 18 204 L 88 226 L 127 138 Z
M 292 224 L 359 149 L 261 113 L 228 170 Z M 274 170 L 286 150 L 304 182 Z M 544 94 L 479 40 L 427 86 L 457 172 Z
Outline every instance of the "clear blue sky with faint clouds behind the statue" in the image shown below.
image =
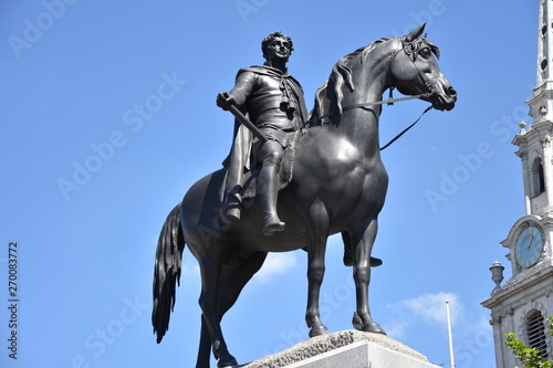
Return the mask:
M 374 318 L 388 335 L 449 367 L 448 296 L 457 367 L 494 366 L 489 266 L 524 214 L 511 139 L 535 85 L 538 0 L 10 1 L 0 4 L 0 366 L 192 367 L 199 276 L 184 254 L 170 329 L 150 326 L 155 248 L 186 190 L 220 167 L 232 118 L 215 105 L 260 42 L 293 38 L 290 72 L 313 106 L 343 55 L 427 22 L 459 99 L 432 111 L 383 154 L 390 186 L 374 254 Z M 386 106 L 383 141 L 427 103 Z M 18 243 L 18 359 L 8 249 Z M 322 312 L 348 329 L 351 269 L 331 238 Z M 306 257 L 271 256 L 223 320 L 248 362 L 306 338 Z M 510 276 L 510 270 L 505 270 Z

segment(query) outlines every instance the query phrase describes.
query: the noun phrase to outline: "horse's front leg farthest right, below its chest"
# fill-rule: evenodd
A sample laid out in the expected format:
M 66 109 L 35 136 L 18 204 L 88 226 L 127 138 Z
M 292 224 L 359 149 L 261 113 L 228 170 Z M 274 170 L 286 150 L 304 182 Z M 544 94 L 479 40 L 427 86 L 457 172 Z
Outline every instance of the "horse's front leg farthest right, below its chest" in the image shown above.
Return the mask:
M 373 320 L 368 303 L 371 252 L 373 250 L 377 230 L 377 219 L 371 219 L 358 236 L 355 236 L 356 241 L 353 244 L 353 277 L 355 281 L 355 294 L 357 299 L 353 325 L 355 328 L 367 333 L 386 334 L 384 329 L 382 329 L 382 327 Z

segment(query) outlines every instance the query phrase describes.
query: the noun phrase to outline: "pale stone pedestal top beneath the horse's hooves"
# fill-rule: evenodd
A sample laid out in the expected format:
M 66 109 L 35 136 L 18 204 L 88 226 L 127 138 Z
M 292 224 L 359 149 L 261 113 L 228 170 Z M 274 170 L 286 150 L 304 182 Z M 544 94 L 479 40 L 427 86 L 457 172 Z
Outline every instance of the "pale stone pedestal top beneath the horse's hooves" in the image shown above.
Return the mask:
M 242 368 L 438 368 L 421 354 L 379 334 L 343 330 L 317 336 Z

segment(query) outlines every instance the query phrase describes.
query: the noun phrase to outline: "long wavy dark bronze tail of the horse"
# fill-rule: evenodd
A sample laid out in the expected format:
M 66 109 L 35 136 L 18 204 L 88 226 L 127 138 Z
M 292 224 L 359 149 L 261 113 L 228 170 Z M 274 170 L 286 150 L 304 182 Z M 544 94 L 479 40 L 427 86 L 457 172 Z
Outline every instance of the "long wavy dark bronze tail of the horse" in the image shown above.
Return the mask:
M 157 242 L 156 265 L 154 267 L 154 311 L 152 324 L 157 334 L 157 344 L 169 329 L 169 317 L 176 301 L 176 285 L 180 285 L 180 265 L 185 238 L 180 225 L 178 203 L 167 215 Z

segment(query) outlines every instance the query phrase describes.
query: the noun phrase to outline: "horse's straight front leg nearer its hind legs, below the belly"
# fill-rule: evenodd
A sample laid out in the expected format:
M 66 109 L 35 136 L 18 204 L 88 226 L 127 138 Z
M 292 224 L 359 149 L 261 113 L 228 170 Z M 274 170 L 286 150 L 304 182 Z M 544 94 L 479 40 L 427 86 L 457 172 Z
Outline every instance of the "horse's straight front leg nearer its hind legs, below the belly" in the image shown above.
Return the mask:
M 307 311 L 305 322 L 310 327 L 310 337 L 328 334 L 321 322 L 319 299 L 324 277 L 324 256 L 328 238 L 328 215 L 324 206 L 319 202 L 311 208 L 311 221 L 307 225 Z

